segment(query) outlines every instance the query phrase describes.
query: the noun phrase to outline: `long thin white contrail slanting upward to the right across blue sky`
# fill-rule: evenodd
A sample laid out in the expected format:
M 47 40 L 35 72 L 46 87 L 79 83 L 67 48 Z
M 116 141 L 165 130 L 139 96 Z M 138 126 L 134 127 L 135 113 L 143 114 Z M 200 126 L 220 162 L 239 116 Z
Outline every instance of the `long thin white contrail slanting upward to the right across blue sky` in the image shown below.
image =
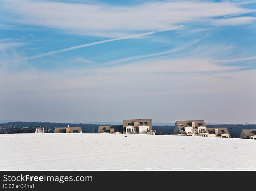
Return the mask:
M 111 41 L 115 41 L 115 40 L 124 40 L 124 39 L 128 39 L 128 38 L 135 38 L 135 37 L 140 37 L 140 36 L 151 35 L 151 34 L 160 33 L 160 32 L 163 32 L 163 31 L 174 30 L 174 29 L 180 28 L 182 26 L 184 26 L 184 25 L 175 26 L 173 28 L 168 28 L 166 30 L 161 30 L 161 31 L 160 30 L 159 31 L 151 31 L 151 32 L 147 32 L 147 33 L 129 35 L 129 36 L 124 36 L 124 37 L 120 37 L 120 38 L 113 38 L 113 39 L 109 39 L 109 40 L 102 40 L 102 41 L 98 41 L 98 42 L 82 44 L 82 45 L 79 45 L 79 46 L 74 46 L 74 47 L 70 47 L 70 48 L 66 48 L 66 49 L 62 49 L 62 50 L 57 50 L 57 51 L 47 52 L 47 53 L 43 53 L 43 54 L 38 54 L 38 55 L 35 55 L 35 56 L 26 57 L 26 58 L 19 58 L 19 59 L 16 59 L 16 60 L 9 60 L 9 61 L 5 61 L 4 63 L 10 63 L 10 62 L 21 61 L 21 60 L 29 60 L 29 59 L 33 59 L 33 58 L 40 58 L 40 57 L 48 56 L 48 55 L 51 55 L 51 54 L 70 51 L 70 50 L 74 50 L 74 49 L 80 49 L 80 48 L 83 48 L 83 47 L 89 47 L 89 46 L 93 46 L 93 45 L 96 45 L 96 44 L 102 44 L 102 43 L 111 42 Z

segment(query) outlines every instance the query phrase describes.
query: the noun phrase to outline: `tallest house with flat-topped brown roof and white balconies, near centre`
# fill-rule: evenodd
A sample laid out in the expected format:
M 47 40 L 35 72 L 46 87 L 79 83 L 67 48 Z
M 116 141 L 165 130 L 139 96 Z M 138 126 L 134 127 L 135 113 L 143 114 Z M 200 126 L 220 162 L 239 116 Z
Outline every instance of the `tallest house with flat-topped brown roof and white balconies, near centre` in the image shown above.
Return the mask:
M 152 129 L 152 119 L 125 119 L 123 133 L 155 135 L 156 131 Z

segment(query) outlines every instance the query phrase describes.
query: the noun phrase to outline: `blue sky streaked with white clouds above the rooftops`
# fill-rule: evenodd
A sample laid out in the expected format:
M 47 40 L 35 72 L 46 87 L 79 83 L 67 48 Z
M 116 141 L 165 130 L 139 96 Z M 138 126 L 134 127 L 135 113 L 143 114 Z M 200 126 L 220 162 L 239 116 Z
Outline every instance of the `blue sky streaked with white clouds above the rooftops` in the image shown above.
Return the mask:
M 255 34 L 256 1 L 0 0 L 0 116 L 256 123 Z

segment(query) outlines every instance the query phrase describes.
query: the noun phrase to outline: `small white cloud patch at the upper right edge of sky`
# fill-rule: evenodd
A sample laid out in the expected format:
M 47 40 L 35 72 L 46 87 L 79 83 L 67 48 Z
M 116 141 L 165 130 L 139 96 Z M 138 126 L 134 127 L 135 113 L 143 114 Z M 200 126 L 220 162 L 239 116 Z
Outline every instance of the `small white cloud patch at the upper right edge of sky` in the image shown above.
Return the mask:
M 214 25 L 243 25 L 243 24 L 251 24 L 255 21 L 255 17 L 234 17 L 234 18 L 228 18 L 228 19 L 218 19 L 212 24 Z

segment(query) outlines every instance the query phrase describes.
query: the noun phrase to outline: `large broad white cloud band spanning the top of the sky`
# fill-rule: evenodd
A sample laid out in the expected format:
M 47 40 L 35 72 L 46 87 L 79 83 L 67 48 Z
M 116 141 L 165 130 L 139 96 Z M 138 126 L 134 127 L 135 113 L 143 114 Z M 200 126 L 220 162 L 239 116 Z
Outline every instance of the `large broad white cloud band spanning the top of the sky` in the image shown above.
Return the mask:
M 9 21 L 47 26 L 72 33 L 120 37 L 142 30 L 162 30 L 178 23 L 239 15 L 249 9 L 233 3 L 150 2 L 134 6 L 3 0 Z M 11 17 L 13 15 L 13 17 Z M 121 33 L 121 34 L 119 34 Z

